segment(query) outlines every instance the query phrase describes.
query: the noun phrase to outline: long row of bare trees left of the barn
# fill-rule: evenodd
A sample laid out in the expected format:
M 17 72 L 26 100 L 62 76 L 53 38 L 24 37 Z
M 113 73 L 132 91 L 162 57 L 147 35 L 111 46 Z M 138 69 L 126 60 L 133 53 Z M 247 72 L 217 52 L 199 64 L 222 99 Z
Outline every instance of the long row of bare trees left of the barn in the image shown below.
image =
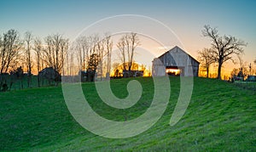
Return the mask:
M 137 33 L 132 32 L 126 33 L 116 44 L 120 62 L 128 63 L 124 64 L 124 70 L 131 71 L 138 45 Z M 20 37 L 18 31 L 11 29 L 0 36 L 0 90 L 6 82 L 5 75 L 26 71 L 27 87 L 31 87 L 32 73 L 39 75 L 49 67 L 62 76 L 83 75 L 85 72 L 86 81 L 94 81 L 96 75 L 109 77 L 112 49 L 113 40 L 108 33 L 104 37 L 97 34 L 81 36 L 71 43 L 58 33 L 41 38 L 26 31 Z M 39 84 L 38 76 L 38 87 Z

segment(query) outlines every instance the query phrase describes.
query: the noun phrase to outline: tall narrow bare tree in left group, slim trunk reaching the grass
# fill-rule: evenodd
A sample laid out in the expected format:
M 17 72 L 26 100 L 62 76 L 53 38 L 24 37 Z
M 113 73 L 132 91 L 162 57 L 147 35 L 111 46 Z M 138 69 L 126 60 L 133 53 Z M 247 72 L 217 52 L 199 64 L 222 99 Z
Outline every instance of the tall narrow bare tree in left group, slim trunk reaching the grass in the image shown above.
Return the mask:
M 31 55 L 31 48 L 32 48 L 32 32 L 26 31 L 25 32 L 25 43 L 26 43 L 26 66 L 27 66 L 27 87 L 31 87 L 32 83 L 32 55 Z

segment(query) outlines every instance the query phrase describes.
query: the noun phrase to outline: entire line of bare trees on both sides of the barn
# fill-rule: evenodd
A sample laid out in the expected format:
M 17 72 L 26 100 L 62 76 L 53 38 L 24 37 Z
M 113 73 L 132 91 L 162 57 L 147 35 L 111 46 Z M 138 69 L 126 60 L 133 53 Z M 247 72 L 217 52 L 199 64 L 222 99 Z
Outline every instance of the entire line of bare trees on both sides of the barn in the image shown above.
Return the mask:
M 206 69 L 207 77 L 212 64 L 218 65 L 218 79 L 225 62 L 235 61 L 238 56 L 241 69 L 245 64 L 241 61 L 243 48 L 247 43 L 232 36 L 220 36 L 218 29 L 205 25 L 202 35 L 211 40 L 211 47 L 199 51 L 201 67 Z M 14 74 L 17 78 L 21 71 L 26 71 L 27 86 L 32 85 L 32 73 L 38 75 L 41 70 L 51 67 L 62 76 L 85 76 L 85 81 L 94 81 L 97 77 L 109 77 L 113 40 L 109 33 L 104 37 L 81 36 L 74 42 L 61 34 L 47 37 L 35 37 L 31 31 L 26 31 L 23 37 L 14 29 L 0 36 L 0 90 L 6 81 L 4 75 Z M 134 63 L 136 48 L 141 45 L 137 33 L 125 33 L 115 44 L 119 50 L 119 61 L 125 76 L 132 76 L 131 66 Z M 256 59 L 254 61 L 256 64 Z M 251 67 L 251 65 L 250 65 Z M 250 69 L 251 71 L 251 69 Z M 18 79 L 18 78 L 17 78 Z M 39 87 L 38 76 L 38 87 Z

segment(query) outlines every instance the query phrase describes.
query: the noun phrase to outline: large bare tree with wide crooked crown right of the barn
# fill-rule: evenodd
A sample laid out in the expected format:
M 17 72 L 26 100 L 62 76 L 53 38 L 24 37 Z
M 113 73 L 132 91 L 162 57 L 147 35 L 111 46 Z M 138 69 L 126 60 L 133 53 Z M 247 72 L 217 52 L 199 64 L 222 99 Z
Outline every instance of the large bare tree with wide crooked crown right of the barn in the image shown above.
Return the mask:
M 220 37 L 216 28 L 205 25 L 202 31 L 204 37 L 212 40 L 211 58 L 218 63 L 218 79 L 221 79 L 221 69 L 224 62 L 233 60 L 233 55 L 243 53 L 243 48 L 247 44 L 236 37 Z M 234 60 L 233 60 L 234 61 Z

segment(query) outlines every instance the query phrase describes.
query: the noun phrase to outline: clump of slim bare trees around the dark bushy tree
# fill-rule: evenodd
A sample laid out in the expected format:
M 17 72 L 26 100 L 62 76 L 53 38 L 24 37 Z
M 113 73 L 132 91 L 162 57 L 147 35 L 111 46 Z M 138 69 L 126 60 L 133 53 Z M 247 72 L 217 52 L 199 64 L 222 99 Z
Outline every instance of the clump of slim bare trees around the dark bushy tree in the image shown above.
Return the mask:
M 91 69 L 90 60 L 97 60 L 97 76 L 103 78 L 104 70 L 107 69 L 107 73 L 111 69 L 111 52 L 113 48 L 113 42 L 111 36 L 105 34 L 106 37 L 100 38 L 95 34 L 90 37 L 79 37 L 73 43 L 73 49 L 78 61 L 79 71 Z M 91 59 L 91 58 L 94 59 Z M 97 57 L 97 58 L 95 58 Z M 107 57 L 107 62 L 103 61 Z M 105 66 L 106 64 L 106 66 Z

